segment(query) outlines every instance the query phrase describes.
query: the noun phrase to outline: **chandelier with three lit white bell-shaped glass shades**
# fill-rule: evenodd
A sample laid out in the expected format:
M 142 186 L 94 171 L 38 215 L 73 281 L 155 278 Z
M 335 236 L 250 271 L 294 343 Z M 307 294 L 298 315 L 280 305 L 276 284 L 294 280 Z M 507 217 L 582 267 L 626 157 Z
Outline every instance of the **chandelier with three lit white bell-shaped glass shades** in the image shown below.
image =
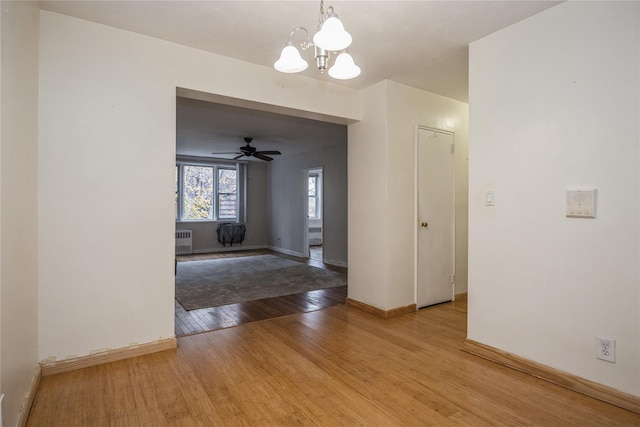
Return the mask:
M 360 67 L 354 62 L 347 52 L 347 47 L 351 44 L 351 34 L 345 31 L 338 15 L 329 6 L 327 13 L 324 12 L 324 1 L 320 0 L 320 16 L 318 17 L 318 32 L 313 36 L 313 41 L 309 38 L 309 31 L 304 27 L 296 27 L 291 30 L 287 44 L 280 58 L 273 64 L 273 67 L 282 73 L 299 73 L 307 69 L 309 64 L 300 55 L 292 38 L 296 31 L 304 31 L 306 38 L 299 42 L 302 50 L 308 50 L 314 46 L 316 67 L 321 73 L 327 69 L 330 59 L 330 52 L 338 54 L 331 68 L 329 75 L 334 79 L 347 80 L 360 75 Z

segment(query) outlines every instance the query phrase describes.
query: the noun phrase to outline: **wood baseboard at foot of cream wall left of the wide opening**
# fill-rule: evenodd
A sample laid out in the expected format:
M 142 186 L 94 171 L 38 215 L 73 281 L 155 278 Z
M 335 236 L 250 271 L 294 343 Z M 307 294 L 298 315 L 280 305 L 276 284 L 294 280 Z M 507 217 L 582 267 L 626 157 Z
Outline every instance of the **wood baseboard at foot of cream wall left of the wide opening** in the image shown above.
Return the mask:
M 52 363 L 43 363 L 42 376 L 60 374 L 62 372 L 75 371 L 76 369 L 88 368 L 90 366 L 102 365 L 103 363 L 115 362 L 129 359 L 145 354 L 157 353 L 159 351 L 173 350 L 178 347 L 176 338 L 154 341 L 150 343 L 132 345 L 129 347 L 107 350 L 100 353 L 80 356 L 73 359 L 60 360 Z

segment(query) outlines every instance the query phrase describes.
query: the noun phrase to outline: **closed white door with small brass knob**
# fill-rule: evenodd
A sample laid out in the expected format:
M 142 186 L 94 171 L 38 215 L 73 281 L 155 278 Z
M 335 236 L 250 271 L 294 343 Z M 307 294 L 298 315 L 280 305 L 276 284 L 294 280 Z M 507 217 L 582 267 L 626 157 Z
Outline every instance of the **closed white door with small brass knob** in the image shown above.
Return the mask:
M 418 129 L 418 307 L 454 295 L 455 185 L 453 134 Z

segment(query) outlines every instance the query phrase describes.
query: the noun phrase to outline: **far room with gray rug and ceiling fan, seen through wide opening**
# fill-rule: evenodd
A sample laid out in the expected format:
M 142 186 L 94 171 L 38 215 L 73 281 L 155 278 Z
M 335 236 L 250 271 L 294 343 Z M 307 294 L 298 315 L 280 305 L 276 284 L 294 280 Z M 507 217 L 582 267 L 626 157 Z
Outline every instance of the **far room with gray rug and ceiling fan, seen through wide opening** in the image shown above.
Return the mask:
M 176 336 L 344 303 L 347 127 L 178 93 Z

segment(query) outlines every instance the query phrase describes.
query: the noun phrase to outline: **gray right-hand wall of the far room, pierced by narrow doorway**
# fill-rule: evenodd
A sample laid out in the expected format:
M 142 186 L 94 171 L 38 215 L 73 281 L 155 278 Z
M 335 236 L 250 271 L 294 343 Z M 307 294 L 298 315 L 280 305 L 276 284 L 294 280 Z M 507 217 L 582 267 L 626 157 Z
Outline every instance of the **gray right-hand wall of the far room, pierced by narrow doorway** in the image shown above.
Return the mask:
M 270 246 L 307 256 L 304 201 L 307 169 L 323 168 L 323 258 L 347 266 L 347 129 L 344 140 L 269 164 Z

